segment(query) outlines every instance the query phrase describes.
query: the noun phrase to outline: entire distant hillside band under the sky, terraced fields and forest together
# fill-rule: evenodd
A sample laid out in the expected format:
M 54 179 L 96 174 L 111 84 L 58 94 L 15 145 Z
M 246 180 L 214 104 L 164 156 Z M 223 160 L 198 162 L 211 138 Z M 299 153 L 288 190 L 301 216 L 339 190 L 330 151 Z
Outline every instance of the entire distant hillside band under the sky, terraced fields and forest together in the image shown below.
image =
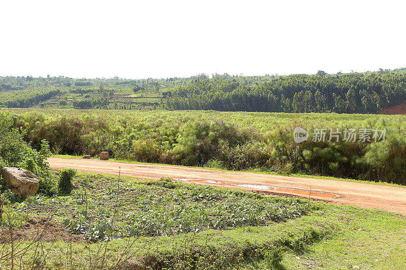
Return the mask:
M 0 105 L 77 109 L 377 113 L 406 101 L 406 69 L 287 76 L 199 74 L 125 80 L 0 78 Z

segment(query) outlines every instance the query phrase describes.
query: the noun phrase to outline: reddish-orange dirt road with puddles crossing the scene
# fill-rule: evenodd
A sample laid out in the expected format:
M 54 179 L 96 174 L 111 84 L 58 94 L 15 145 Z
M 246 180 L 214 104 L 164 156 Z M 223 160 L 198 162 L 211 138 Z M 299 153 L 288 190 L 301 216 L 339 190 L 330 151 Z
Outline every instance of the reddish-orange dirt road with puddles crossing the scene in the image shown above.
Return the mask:
M 161 177 L 205 179 L 218 183 L 207 183 L 201 180 L 194 182 L 213 186 L 265 191 L 272 194 L 283 194 L 301 198 L 308 198 L 309 190 L 312 189 L 312 199 L 406 214 L 406 187 L 247 172 L 225 172 L 180 166 L 118 163 L 100 160 L 49 158 L 47 161 L 51 169 L 75 168 L 80 172 L 118 175 L 119 167 L 121 167 L 121 175 L 126 176 L 149 179 L 159 179 Z M 278 191 L 273 188 L 264 189 L 266 188 L 264 186 L 244 187 L 235 186 L 235 184 L 270 185 L 279 188 L 292 188 L 306 191 L 301 191 L 302 194 L 300 195 L 297 194 L 300 190 L 282 189 Z M 314 191 L 316 192 L 314 193 Z M 340 197 L 323 198 L 322 196 L 324 195 L 317 192 L 328 192 L 329 194 L 336 194 Z

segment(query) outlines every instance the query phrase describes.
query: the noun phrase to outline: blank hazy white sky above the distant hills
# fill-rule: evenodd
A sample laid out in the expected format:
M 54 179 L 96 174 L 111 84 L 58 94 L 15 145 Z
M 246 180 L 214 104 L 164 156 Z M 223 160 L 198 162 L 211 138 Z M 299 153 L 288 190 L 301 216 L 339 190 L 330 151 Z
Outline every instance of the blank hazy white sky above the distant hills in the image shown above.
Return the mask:
M 0 75 L 168 78 L 406 67 L 404 1 L 0 2 Z

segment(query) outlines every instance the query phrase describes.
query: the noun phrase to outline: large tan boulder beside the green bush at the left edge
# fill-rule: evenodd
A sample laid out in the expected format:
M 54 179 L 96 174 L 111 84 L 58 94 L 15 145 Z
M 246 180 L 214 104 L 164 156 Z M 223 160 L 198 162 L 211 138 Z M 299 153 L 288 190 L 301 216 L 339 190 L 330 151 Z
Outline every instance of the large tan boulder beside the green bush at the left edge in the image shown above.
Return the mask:
M 2 176 L 6 186 L 10 188 L 11 192 L 23 200 L 27 197 L 35 196 L 38 190 L 38 176 L 28 170 L 15 167 L 3 167 Z

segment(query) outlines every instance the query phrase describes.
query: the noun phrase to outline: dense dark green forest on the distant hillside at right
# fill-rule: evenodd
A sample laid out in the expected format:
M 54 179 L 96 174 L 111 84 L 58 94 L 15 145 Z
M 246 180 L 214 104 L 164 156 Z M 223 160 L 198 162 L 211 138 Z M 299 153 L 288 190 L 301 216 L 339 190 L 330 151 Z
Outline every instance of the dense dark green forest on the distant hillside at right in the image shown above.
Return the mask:
M 194 79 L 165 95 L 175 110 L 377 113 L 406 101 L 406 73 L 291 75 L 254 85 Z

